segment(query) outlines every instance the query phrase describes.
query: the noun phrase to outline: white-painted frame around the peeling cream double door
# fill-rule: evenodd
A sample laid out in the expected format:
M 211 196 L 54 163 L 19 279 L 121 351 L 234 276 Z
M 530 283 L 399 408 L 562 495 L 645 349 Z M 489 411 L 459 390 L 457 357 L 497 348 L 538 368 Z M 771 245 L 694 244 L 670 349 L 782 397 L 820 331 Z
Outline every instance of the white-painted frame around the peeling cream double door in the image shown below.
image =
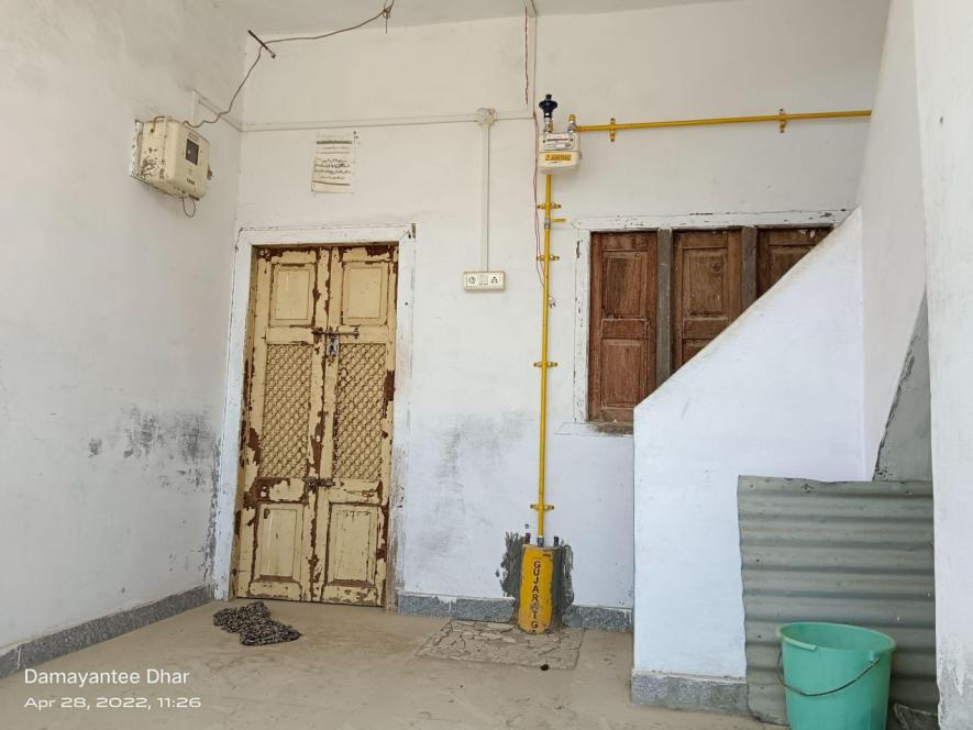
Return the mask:
M 230 294 L 230 321 L 226 360 L 226 390 L 220 436 L 218 486 L 210 517 L 210 579 L 213 595 L 232 597 L 232 567 L 236 560 L 236 510 L 240 496 L 240 436 L 243 422 L 243 385 L 246 362 L 247 328 L 253 261 L 256 248 L 296 248 L 301 246 L 356 246 L 364 244 L 396 246 L 399 252 L 396 284 L 396 380 L 392 401 L 391 485 L 386 524 L 386 578 L 382 605 L 395 608 L 398 594 L 398 526 L 406 454 L 409 444 L 409 401 L 412 380 L 412 311 L 414 310 L 416 270 L 414 223 L 392 225 L 322 225 L 317 228 L 247 228 L 236 236 L 233 254 L 233 281 Z

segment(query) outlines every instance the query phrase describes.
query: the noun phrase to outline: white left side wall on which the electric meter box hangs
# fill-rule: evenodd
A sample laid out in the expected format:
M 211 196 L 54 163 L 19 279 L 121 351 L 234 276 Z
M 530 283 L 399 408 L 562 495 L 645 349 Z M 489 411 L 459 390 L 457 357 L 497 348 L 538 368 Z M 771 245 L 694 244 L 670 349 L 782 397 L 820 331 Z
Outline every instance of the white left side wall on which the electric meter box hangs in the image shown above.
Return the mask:
M 242 47 L 202 3 L 0 4 L 2 646 L 207 579 L 239 135 L 192 220 L 128 170 Z

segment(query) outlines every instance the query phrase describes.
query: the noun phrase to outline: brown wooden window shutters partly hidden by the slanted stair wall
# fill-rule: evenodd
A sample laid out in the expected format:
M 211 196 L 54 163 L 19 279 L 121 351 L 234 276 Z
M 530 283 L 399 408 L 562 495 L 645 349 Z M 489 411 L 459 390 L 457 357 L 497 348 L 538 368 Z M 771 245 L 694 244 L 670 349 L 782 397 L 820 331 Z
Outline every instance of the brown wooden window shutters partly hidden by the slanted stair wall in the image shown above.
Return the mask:
M 591 235 L 588 418 L 632 409 L 825 239 L 830 228 Z

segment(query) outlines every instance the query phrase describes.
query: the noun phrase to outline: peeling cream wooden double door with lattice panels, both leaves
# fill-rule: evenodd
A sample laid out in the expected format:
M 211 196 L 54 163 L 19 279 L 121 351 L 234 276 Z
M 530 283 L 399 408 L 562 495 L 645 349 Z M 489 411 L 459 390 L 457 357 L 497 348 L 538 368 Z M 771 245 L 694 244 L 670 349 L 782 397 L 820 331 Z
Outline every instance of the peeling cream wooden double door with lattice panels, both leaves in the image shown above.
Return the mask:
M 256 254 L 239 596 L 383 600 L 396 273 L 395 246 Z

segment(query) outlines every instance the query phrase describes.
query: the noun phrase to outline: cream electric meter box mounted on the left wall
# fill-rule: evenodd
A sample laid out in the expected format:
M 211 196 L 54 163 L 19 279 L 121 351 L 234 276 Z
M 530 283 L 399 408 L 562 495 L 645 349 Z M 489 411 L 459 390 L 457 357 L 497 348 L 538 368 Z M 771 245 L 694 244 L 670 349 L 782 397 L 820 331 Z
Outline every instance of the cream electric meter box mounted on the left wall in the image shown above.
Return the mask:
M 163 192 L 199 200 L 209 181 L 210 143 L 186 122 L 159 117 L 137 124 L 133 176 Z

